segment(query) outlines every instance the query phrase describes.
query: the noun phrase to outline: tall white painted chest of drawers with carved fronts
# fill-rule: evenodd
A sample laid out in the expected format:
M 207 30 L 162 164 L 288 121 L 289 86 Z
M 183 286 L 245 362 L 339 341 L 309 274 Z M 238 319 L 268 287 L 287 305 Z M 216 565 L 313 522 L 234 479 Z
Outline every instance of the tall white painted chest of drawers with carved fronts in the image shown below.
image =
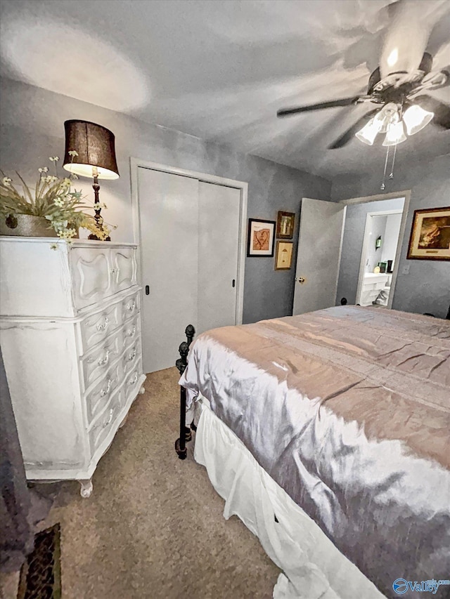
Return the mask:
M 29 480 L 82 496 L 143 393 L 136 246 L 0 237 L 0 343 Z

